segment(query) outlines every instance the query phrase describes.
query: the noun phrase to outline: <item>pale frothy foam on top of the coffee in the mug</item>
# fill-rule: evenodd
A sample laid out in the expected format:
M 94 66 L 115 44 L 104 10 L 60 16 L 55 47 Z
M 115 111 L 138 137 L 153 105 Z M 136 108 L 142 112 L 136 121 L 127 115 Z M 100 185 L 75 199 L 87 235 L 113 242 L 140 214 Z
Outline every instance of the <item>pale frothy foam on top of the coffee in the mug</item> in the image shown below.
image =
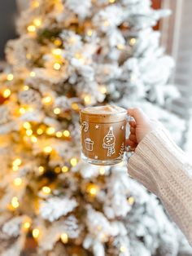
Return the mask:
M 111 114 L 111 113 L 122 113 L 126 112 L 124 108 L 120 108 L 117 106 L 98 106 L 98 107 L 88 107 L 84 108 L 83 113 L 93 113 L 93 114 Z

